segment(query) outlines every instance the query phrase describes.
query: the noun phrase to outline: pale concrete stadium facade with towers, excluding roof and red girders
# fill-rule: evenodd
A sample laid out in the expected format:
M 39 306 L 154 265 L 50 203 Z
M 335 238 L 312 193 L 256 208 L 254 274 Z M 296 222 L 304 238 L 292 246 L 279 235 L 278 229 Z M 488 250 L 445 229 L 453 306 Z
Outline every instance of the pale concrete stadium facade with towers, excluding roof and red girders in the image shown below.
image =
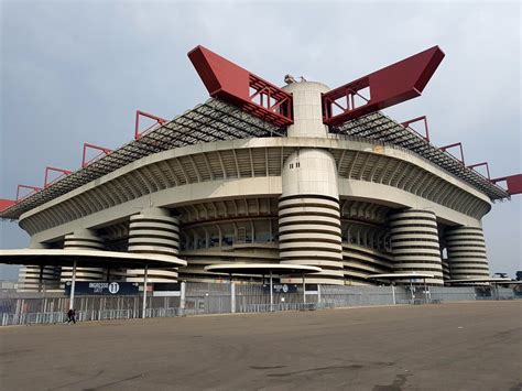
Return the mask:
M 283 89 L 293 97 L 283 137 L 197 142 L 137 159 L 24 211 L 31 247 L 187 261 L 150 270 L 156 283 L 224 282 L 204 268 L 227 262 L 318 265 L 306 281 L 337 285 L 376 284 L 368 276 L 382 273 L 431 273 L 431 285 L 489 276 L 481 219 L 492 202 L 483 191 L 407 149 L 329 132 L 325 85 Z M 107 275 L 141 281 L 143 271 L 77 271 L 78 281 Z M 25 290 L 39 279 L 57 286 L 70 270 L 22 269 Z

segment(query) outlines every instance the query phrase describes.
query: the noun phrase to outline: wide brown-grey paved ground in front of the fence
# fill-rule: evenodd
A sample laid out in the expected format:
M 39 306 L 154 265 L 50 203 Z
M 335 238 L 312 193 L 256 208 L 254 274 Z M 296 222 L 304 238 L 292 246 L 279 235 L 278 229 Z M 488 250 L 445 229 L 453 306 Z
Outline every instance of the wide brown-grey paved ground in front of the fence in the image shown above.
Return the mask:
M 522 302 L 0 329 L 2 390 L 521 390 Z

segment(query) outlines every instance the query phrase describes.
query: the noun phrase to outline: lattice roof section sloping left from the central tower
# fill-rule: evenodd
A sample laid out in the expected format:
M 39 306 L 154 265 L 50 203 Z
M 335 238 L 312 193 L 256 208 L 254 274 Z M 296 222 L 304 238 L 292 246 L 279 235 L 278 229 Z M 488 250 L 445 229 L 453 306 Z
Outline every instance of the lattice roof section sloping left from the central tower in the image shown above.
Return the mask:
M 0 218 L 18 219 L 25 211 L 153 153 L 200 142 L 284 134 L 283 128 L 253 117 L 236 106 L 208 99 L 172 121 L 152 128 L 138 140 L 20 199 L 1 210 Z

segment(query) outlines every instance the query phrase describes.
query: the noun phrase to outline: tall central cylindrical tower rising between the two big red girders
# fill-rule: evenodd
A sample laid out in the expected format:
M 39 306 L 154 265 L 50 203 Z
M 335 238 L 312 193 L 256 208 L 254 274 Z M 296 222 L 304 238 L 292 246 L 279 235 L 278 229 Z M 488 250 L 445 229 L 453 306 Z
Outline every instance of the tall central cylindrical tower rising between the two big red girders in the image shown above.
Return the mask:
M 294 83 L 294 124 L 289 137 L 325 138 L 318 83 Z M 334 156 L 326 150 L 301 149 L 292 153 L 282 170 L 279 200 L 279 243 L 282 263 L 323 268 L 311 283 L 344 284 L 339 191 Z

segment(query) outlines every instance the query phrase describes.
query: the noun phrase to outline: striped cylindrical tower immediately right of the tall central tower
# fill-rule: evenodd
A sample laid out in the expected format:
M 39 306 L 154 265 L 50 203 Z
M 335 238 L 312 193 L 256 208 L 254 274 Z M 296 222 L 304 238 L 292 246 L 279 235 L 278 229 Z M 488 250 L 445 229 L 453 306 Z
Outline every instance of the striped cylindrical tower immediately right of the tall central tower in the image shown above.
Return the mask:
M 432 285 L 443 285 L 443 265 L 435 214 L 425 209 L 406 209 L 391 215 L 390 228 L 394 272 L 434 274 L 435 278 L 426 279 L 426 282 Z

